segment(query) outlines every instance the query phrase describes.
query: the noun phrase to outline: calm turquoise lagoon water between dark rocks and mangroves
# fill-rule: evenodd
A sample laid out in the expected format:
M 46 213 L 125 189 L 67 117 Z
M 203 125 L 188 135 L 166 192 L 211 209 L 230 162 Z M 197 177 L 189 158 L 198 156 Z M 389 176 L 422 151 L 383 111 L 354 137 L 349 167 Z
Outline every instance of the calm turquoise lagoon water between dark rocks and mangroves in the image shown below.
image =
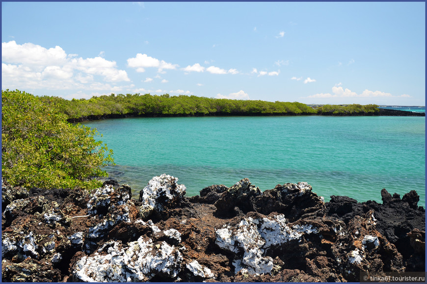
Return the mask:
M 381 189 L 415 189 L 425 206 L 424 117 L 181 117 L 90 121 L 114 151 L 111 178 L 139 194 L 156 175 L 187 195 L 242 178 L 261 190 L 308 182 L 329 200 L 381 202 Z

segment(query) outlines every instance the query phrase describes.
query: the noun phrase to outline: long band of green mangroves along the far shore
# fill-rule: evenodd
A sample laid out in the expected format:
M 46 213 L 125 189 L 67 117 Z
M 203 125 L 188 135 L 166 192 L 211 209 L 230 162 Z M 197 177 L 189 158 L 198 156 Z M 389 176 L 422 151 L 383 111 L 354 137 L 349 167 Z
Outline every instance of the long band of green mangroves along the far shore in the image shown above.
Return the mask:
M 102 95 L 90 99 L 54 100 L 69 118 L 103 115 L 203 116 L 203 115 L 283 115 L 316 114 L 313 108 L 298 102 L 233 100 L 195 95 Z

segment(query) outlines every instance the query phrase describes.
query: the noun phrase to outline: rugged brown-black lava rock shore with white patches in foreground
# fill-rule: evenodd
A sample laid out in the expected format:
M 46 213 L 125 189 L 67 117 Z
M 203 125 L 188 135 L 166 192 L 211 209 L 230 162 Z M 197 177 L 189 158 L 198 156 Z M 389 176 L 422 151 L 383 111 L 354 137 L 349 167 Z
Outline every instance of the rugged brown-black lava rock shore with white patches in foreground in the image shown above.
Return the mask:
M 177 182 L 154 177 L 138 200 L 115 181 L 92 193 L 2 182 L 2 282 L 359 282 L 425 269 L 414 190 L 325 203 L 305 182 L 261 192 L 242 179 L 189 198 Z

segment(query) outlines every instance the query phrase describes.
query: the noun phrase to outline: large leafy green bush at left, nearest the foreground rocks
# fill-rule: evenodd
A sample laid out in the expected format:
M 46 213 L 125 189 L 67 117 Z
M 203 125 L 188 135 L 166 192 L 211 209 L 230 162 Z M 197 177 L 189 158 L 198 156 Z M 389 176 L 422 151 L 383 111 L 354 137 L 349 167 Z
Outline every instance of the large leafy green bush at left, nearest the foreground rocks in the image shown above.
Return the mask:
M 27 188 L 94 189 L 112 151 L 95 137 L 96 129 L 72 125 L 47 97 L 1 91 L 1 174 Z

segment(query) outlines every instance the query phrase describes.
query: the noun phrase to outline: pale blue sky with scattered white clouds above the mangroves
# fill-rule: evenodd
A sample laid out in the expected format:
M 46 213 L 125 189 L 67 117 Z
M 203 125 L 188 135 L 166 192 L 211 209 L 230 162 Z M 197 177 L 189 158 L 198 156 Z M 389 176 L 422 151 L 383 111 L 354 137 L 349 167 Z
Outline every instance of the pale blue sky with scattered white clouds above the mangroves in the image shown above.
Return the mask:
M 425 105 L 425 2 L 2 2 L 2 89 Z

